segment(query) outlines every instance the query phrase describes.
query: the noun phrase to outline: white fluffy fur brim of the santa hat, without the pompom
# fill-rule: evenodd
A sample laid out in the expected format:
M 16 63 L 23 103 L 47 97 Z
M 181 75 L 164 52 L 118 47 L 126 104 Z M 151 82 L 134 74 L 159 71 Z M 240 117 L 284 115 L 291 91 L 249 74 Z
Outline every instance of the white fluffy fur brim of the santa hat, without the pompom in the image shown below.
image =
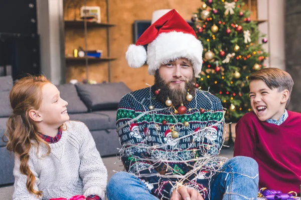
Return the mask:
M 161 65 L 171 60 L 187 58 L 192 62 L 195 76 L 202 70 L 202 42 L 194 35 L 184 32 L 162 32 L 147 46 L 148 74 L 154 75 Z

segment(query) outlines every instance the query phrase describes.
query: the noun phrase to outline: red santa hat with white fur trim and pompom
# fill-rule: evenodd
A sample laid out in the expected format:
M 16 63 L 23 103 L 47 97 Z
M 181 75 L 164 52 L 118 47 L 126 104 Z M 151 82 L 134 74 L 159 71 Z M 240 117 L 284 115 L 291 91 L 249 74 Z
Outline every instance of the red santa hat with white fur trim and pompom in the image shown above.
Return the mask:
M 143 45 L 148 44 L 147 54 Z M 154 75 L 162 64 L 185 57 L 193 64 L 195 76 L 202 69 L 203 46 L 194 29 L 175 10 L 164 14 L 130 44 L 125 58 L 130 67 L 138 68 L 147 60 L 148 73 Z

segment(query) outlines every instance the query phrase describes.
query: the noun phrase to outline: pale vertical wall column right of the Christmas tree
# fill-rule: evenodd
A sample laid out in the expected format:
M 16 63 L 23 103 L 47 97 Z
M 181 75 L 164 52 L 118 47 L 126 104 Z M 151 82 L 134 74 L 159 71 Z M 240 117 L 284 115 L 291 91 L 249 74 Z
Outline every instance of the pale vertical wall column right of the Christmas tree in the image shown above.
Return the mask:
M 269 52 L 266 66 L 285 70 L 284 2 L 285 0 L 257 0 L 258 19 L 268 19 L 258 25 L 268 42 L 263 48 Z M 259 41 L 261 42 L 261 41 Z

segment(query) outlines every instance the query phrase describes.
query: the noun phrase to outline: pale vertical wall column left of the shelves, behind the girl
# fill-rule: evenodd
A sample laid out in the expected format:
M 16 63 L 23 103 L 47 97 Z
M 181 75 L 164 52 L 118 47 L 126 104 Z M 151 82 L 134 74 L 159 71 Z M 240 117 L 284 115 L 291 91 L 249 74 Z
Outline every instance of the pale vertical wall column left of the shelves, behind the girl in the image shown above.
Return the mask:
M 54 84 L 65 81 L 63 0 L 37 0 L 41 70 Z

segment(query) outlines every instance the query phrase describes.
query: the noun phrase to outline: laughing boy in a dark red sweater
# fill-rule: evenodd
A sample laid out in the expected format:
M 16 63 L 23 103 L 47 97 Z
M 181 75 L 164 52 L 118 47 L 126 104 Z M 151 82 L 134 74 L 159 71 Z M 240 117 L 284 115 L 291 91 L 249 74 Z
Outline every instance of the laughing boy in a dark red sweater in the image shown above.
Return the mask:
M 287 111 L 291 76 L 263 68 L 248 77 L 252 110 L 236 124 L 234 156 L 254 158 L 259 188 L 299 193 L 301 184 L 301 114 Z

